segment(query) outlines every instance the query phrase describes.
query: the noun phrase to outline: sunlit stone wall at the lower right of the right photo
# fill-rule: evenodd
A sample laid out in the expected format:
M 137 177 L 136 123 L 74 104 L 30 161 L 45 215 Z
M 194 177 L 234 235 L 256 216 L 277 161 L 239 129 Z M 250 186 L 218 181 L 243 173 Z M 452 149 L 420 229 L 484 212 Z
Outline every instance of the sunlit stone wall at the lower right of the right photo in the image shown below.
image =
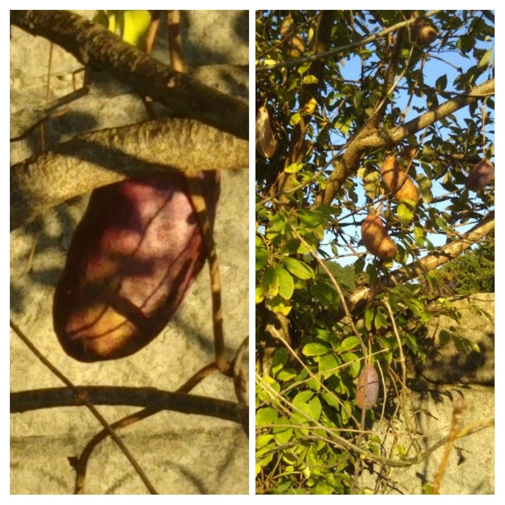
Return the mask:
M 418 365 L 409 377 L 412 405 L 421 451 L 448 435 L 453 400 L 463 398 L 466 410 L 459 427 L 486 423 L 494 419 L 494 293 L 481 293 L 453 300 L 462 314 L 461 324 L 441 317 L 427 325 L 424 346 L 427 359 Z M 441 330 L 455 331 L 476 342 L 480 352 L 458 350 L 454 343 L 440 345 Z M 403 420 L 394 424 L 398 432 L 405 432 Z M 378 432 L 391 429 L 384 420 L 373 427 Z M 384 454 L 396 448 L 390 443 L 383 446 Z M 407 437 L 395 443 L 409 448 Z M 390 468 L 387 479 L 378 476 L 379 467 L 365 471 L 363 483 L 376 493 L 421 494 L 425 482 L 433 483 L 445 450 L 442 445 L 422 463 L 408 468 Z M 412 458 L 412 447 L 406 457 Z M 381 486 L 380 483 L 384 484 Z M 440 486 L 441 494 L 494 494 L 494 428 L 488 427 L 455 442 L 448 459 Z

